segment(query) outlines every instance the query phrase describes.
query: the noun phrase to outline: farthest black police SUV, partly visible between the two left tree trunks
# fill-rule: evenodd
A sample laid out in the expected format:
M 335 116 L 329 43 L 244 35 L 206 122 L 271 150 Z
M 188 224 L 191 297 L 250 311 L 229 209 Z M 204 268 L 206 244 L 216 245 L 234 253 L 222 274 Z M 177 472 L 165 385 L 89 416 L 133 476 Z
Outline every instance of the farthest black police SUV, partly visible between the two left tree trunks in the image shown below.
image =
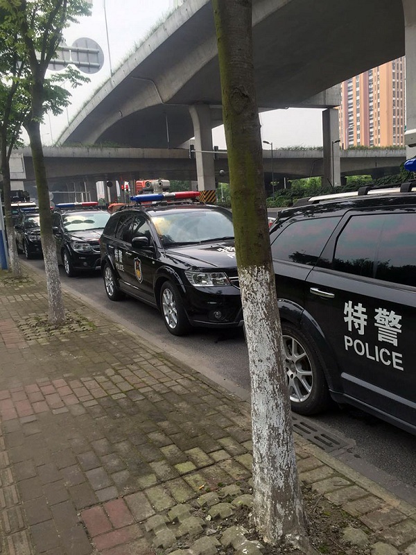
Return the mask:
M 24 253 L 27 259 L 41 256 L 39 209 L 22 207 L 14 217 L 17 252 Z

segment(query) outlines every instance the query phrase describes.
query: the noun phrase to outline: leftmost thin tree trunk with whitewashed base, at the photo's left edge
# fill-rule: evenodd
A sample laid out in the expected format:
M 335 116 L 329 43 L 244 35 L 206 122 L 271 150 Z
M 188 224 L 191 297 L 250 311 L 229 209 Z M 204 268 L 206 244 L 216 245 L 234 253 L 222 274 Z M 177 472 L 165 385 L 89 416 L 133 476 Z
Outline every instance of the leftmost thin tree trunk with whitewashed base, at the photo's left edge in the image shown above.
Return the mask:
M 0 132 L 0 148 L 1 148 L 1 175 L 3 176 L 3 199 L 4 199 L 4 216 L 6 220 L 6 233 L 8 241 L 8 253 L 10 259 L 10 268 L 15 278 L 21 276 L 20 260 L 17 254 L 17 246 L 15 239 L 15 227 L 12 219 L 12 207 L 10 200 L 10 164 L 7 155 L 6 133 L 3 129 Z M 7 248 L 7 246 L 4 246 Z

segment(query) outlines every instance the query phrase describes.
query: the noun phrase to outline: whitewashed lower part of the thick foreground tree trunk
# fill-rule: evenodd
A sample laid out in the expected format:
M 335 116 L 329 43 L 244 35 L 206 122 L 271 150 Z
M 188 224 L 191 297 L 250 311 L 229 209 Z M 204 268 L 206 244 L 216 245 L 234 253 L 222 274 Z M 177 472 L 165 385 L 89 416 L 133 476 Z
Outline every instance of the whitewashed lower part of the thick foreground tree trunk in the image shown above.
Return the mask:
M 240 268 L 239 282 L 251 379 L 254 523 L 266 542 L 284 540 L 307 552 L 275 275 L 266 267 Z

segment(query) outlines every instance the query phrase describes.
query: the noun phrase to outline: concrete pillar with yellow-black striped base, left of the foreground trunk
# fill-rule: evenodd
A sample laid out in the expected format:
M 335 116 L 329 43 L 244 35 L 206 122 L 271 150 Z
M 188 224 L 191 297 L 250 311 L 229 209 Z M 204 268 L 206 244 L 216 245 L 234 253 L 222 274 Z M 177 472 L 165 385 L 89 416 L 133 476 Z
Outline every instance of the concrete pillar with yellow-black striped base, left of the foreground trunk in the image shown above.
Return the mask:
M 212 146 L 211 114 L 206 104 L 189 106 L 195 136 L 196 175 L 198 191 L 214 191 L 206 194 L 207 202 L 215 202 L 214 148 Z M 211 198 L 213 196 L 213 198 Z

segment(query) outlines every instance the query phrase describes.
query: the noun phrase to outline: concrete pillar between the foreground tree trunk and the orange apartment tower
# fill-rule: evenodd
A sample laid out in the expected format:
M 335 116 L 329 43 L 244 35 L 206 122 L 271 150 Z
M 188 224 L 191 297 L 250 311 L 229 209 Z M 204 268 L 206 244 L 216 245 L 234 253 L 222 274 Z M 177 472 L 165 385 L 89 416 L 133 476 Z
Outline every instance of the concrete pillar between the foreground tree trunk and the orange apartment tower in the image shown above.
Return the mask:
M 322 135 L 324 146 L 324 173 L 322 185 L 341 185 L 340 128 L 338 110 L 328 108 L 322 112 Z

